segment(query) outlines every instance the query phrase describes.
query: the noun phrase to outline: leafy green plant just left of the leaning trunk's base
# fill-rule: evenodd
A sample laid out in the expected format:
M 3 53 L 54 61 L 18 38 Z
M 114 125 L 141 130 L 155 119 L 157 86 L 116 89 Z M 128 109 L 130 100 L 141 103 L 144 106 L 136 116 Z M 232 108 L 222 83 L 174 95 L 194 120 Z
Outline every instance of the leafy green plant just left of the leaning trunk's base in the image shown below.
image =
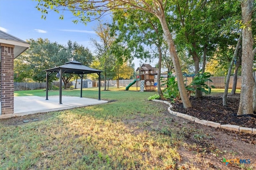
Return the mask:
M 167 94 L 170 98 L 174 99 L 180 99 L 180 92 L 178 88 L 178 82 L 175 80 L 175 76 L 172 76 L 172 73 L 168 73 L 168 79 L 163 80 L 161 77 L 161 86 L 166 85 L 166 88 L 164 88 L 163 92 L 164 94 Z

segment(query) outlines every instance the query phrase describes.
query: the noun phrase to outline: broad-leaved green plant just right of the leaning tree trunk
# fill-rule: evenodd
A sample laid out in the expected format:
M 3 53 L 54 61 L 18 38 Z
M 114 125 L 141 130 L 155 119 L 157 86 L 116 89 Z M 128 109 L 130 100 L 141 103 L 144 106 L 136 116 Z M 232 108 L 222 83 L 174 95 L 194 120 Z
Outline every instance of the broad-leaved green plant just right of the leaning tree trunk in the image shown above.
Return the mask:
M 215 88 L 214 86 L 208 86 L 205 84 L 205 82 L 212 80 L 210 79 L 210 76 L 212 76 L 209 72 L 200 73 L 202 70 L 196 74 L 196 76 L 193 78 L 192 82 L 186 86 L 187 91 L 196 91 L 196 89 L 204 92 L 206 95 L 211 94 L 211 89 Z

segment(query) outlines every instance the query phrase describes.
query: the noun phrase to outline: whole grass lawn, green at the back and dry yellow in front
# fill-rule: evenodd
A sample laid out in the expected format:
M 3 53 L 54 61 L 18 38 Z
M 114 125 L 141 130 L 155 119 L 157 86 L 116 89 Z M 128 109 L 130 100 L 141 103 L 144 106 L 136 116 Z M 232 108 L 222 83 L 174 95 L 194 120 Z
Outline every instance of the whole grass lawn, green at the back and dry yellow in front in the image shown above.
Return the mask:
M 110 88 L 101 91 L 102 100 L 111 101 L 107 104 L 32 115 L 38 121 L 15 124 L 11 119 L 6 124 L 1 120 L 0 169 L 196 169 L 193 163 L 176 164 L 181 160 L 180 146 L 195 147 L 183 143 L 184 132 L 175 126 L 153 126 L 166 111 L 159 103 L 147 100 L 157 92 L 131 90 Z M 80 96 L 80 90 L 63 90 L 62 94 Z M 45 90 L 14 95 L 45 96 Z M 49 91 L 50 95 L 58 95 L 58 90 Z M 83 97 L 97 99 L 98 88 L 84 89 Z M 22 122 L 22 117 L 15 120 Z M 129 125 L 132 121 L 136 125 Z M 146 130 L 148 127 L 154 130 Z

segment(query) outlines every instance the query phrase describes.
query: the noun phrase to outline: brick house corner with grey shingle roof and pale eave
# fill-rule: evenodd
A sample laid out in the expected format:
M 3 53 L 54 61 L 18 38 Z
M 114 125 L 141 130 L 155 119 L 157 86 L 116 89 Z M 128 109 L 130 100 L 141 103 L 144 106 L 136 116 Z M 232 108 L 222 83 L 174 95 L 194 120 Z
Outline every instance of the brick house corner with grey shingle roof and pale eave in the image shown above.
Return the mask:
M 14 113 L 14 59 L 29 46 L 0 30 L 0 115 Z

